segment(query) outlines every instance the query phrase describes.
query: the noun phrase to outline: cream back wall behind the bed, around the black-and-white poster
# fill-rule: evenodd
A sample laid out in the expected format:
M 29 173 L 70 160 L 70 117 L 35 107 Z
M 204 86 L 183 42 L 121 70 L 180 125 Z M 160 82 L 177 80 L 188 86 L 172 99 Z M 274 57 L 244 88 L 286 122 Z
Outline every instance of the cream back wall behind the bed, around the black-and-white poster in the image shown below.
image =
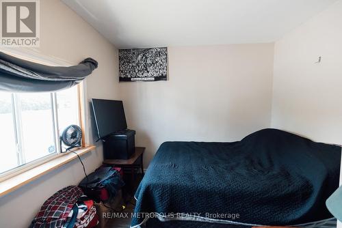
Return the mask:
M 147 147 L 164 141 L 236 141 L 268 128 L 274 44 L 168 48 L 168 81 L 120 83 L 128 126 Z

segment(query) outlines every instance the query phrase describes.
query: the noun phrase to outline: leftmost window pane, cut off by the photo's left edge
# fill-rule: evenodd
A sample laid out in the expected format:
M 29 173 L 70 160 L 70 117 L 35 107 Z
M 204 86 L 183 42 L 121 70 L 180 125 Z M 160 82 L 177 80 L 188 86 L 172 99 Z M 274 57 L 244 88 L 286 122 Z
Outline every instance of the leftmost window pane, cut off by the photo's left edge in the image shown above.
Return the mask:
M 0 92 L 0 173 L 18 166 L 12 94 Z

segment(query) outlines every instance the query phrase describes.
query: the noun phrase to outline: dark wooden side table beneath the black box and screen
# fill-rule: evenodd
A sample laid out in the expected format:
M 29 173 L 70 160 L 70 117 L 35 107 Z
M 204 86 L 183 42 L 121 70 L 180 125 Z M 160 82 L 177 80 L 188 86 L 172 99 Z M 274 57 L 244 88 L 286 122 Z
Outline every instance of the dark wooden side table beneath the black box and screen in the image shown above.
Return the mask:
M 141 169 L 142 174 L 144 174 L 144 163 L 143 155 L 145 152 L 145 147 L 135 147 L 135 152 L 132 154 L 131 158 L 127 160 L 122 159 L 106 159 L 103 161 L 103 165 L 110 165 L 112 167 L 121 167 L 131 169 L 131 183 L 134 182 L 134 169 Z

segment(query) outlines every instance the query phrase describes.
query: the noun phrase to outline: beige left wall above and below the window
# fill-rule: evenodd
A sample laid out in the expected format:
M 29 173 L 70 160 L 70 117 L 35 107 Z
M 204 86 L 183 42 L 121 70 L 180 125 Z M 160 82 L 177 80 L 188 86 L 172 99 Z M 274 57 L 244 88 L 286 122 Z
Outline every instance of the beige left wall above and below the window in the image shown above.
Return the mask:
M 118 99 L 118 51 L 75 12 L 58 0 L 40 1 L 41 55 L 79 63 L 86 57 L 98 61 L 87 79 L 88 98 Z M 101 145 L 83 156 L 88 173 L 101 165 Z M 79 160 L 64 165 L 14 192 L 0 198 L 0 227 L 28 227 L 40 205 L 65 186 L 83 178 Z

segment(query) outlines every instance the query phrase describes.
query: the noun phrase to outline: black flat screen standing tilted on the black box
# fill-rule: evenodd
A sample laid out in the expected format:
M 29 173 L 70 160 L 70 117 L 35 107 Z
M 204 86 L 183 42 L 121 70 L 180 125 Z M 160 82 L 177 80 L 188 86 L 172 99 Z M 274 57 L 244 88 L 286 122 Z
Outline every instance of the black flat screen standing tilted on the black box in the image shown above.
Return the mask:
M 92 99 L 98 138 L 127 129 L 124 106 L 121 100 Z

